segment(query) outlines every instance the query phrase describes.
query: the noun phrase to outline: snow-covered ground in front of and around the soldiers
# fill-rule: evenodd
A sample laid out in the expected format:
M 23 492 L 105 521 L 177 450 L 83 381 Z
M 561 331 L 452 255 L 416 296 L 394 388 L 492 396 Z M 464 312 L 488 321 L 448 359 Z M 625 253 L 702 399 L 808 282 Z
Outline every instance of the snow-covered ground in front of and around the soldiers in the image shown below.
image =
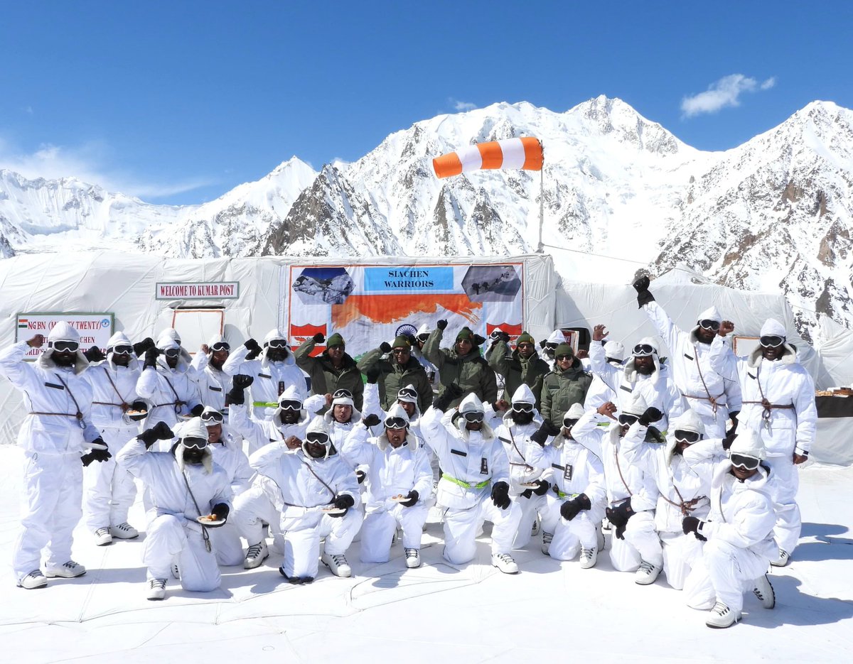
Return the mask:
M 18 529 L 20 450 L 0 446 L 0 643 L 4 661 L 851 661 L 853 657 L 853 467 L 802 469 L 803 536 L 792 563 L 773 569 L 776 608 L 751 595 L 744 620 L 705 626 L 663 575 L 636 586 L 606 554 L 595 569 L 558 563 L 538 542 L 518 551 L 521 573 L 441 557 L 440 526 L 424 536 L 421 569 L 403 569 L 399 545 L 380 565 L 358 562 L 337 579 L 321 566 L 310 586 L 289 586 L 273 554 L 261 568 L 223 569 L 218 592 L 170 581 L 163 602 L 145 599 L 142 538 L 97 547 L 78 528 L 74 557 L 89 572 L 15 587 L 9 567 Z M 131 522 L 142 526 L 137 502 Z M 488 530 L 487 530 L 488 532 Z M 609 538 L 609 535 L 608 535 Z M 590 638 L 591 637 L 591 638 Z

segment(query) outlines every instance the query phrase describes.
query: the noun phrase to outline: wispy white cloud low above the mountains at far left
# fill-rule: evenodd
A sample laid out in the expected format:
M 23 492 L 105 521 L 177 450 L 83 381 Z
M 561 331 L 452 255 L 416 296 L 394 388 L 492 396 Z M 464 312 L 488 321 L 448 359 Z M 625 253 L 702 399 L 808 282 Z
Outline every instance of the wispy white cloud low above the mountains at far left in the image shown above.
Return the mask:
M 201 177 L 178 182 L 150 182 L 136 174 L 109 167 L 109 156 L 109 148 L 98 142 L 78 147 L 46 143 L 34 152 L 26 152 L 0 138 L 0 169 L 14 170 L 31 180 L 76 177 L 109 192 L 125 193 L 143 200 L 174 196 L 215 183 Z

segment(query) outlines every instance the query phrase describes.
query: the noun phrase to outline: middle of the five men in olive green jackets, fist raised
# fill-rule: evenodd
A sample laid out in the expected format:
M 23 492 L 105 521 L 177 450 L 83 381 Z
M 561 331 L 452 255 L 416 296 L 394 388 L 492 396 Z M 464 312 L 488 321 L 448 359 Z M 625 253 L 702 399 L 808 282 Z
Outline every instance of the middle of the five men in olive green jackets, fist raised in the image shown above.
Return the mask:
M 494 405 L 497 400 L 497 378 L 489 363 L 479 354 L 479 344 L 485 339 L 463 327 L 456 335 L 453 348 L 439 348 L 445 327 L 447 320 L 439 320 L 423 348 L 424 357 L 438 368 L 441 380 L 438 394 L 444 394 L 448 385 L 456 383 L 462 393 L 450 401 L 449 407 L 456 407 L 471 393 L 477 395 L 483 403 Z

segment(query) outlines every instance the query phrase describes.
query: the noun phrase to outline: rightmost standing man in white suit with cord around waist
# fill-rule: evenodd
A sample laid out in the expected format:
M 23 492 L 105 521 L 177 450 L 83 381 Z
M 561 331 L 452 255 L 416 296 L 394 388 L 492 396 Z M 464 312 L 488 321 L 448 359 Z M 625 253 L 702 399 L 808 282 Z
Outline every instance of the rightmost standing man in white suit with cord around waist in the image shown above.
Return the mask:
M 721 328 L 722 334 L 733 331 L 732 323 Z M 722 364 L 727 352 L 728 340 L 715 338 L 711 361 Z M 767 465 L 775 476 L 774 534 L 779 551 L 771 563 L 783 567 L 797 546 L 802 525 L 795 466 L 809 458 L 815 440 L 815 383 L 799 363 L 797 351 L 788 344 L 785 326 L 773 318 L 764 322 L 756 349 L 739 357 L 737 364 L 743 397 L 740 423 L 761 436 Z

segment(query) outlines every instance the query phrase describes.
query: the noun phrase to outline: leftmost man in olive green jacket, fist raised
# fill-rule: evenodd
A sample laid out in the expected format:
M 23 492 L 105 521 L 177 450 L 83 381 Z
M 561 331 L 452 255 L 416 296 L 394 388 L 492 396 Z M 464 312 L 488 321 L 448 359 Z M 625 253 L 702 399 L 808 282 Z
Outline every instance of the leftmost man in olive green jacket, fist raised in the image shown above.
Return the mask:
M 335 332 L 326 342 L 326 349 L 320 355 L 311 357 L 316 344 L 322 344 L 323 335 L 317 332 L 313 338 L 306 339 L 293 353 L 297 366 L 311 377 L 311 394 L 334 394 L 335 390 L 350 390 L 356 410 L 360 411 L 364 403 L 364 382 L 362 372 L 358 371 L 356 361 L 345 353 L 344 338 Z

